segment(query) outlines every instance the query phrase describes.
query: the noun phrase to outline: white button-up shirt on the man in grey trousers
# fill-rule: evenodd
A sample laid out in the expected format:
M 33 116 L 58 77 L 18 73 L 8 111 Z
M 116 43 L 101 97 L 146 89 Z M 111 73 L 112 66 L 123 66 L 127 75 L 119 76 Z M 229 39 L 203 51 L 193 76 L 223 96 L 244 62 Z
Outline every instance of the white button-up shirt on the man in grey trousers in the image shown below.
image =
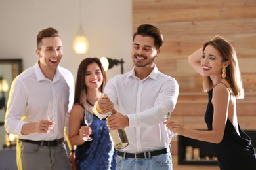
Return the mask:
M 22 135 L 21 129 L 27 122 L 47 120 L 49 101 L 56 101 L 54 136 L 46 137 L 45 133 Z M 5 129 L 8 133 L 18 135 L 20 139 L 33 141 L 51 141 L 64 137 L 65 121 L 68 121 L 74 100 L 74 78 L 70 71 L 58 66 L 53 81 L 45 78 L 38 62 L 34 67 L 26 69 L 12 82 Z M 68 122 L 66 123 L 68 125 Z M 68 129 L 66 129 L 66 132 Z

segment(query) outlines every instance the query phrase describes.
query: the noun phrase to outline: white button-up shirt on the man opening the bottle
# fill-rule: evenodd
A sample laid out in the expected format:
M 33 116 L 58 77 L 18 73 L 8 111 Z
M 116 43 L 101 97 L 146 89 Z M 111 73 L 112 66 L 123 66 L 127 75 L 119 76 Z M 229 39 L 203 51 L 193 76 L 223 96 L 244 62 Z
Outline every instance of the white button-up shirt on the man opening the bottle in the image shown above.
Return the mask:
M 170 132 L 163 122 L 168 109 L 172 112 L 177 103 L 179 85 L 175 78 L 163 75 L 154 65 L 152 73 L 140 80 L 133 68 L 124 75 L 111 78 L 104 93 L 115 109 L 129 118 L 129 127 L 125 128 L 129 146 L 123 149 L 124 152 L 145 152 L 169 146 Z M 97 116 L 104 118 L 106 114 Z

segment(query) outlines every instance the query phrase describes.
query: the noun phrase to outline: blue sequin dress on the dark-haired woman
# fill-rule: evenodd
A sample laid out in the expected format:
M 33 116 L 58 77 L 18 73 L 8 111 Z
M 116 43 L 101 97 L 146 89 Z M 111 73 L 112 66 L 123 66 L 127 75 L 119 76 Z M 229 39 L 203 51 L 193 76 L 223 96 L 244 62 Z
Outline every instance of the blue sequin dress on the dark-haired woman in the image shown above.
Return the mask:
M 83 121 L 83 126 L 85 122 Z M 116 154 L 110 141 L 106 120 L 93 115 L 91 124 L 93 141 L 86 141 L 76 149 L 76 167 L 78 169 L 105 170 L 116 169 Z

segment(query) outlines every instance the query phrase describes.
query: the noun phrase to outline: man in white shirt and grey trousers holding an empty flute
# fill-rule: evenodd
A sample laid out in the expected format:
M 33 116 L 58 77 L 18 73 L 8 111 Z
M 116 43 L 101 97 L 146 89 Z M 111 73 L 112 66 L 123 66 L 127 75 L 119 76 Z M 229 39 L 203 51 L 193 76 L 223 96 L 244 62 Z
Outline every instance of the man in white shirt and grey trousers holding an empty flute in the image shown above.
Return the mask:
M 74 79 L 70 71 L 58 66 L 63 55 L 58 31 L 51 27 L 40 31 L 35 52 L 39 61 L 12 82 L 5 129 L 18 135 L 18 169 L 71 169 L 63 142 L 74 100 Z M 53 121 L 47 120 L 49 101 L 56 103 Z M 51 129 L 53 136 L 48 137 Z

